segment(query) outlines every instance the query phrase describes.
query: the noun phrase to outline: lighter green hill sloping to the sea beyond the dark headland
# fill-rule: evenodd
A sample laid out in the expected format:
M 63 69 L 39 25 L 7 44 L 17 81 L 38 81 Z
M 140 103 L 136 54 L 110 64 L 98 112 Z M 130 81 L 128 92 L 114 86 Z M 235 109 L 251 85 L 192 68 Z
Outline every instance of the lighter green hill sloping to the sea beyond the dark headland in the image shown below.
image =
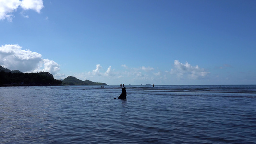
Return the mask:
M 79 80 L 76 77 L 68 76 L 62 81 L 62 85 L 107 85 L 106 83 Z

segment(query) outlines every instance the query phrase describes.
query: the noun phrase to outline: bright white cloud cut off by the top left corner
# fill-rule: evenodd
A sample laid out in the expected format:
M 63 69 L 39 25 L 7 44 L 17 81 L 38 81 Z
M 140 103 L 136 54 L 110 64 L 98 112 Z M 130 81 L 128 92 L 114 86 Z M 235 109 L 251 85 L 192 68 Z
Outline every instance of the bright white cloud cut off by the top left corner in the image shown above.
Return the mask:
M 0 20 L 7 19 L 11 22 L 14 17 L 12 13 L 16 12 L 18 8 L 31 9 L 40 13 L 43 7 L 43 0 L 0 0 Z

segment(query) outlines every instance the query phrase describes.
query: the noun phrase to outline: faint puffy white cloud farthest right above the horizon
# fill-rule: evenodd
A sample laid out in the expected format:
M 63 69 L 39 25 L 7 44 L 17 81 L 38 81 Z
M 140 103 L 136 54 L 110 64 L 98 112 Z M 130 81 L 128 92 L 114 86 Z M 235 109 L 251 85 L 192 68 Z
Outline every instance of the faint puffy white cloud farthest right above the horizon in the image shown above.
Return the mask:
M 203 68 L 191 66 L 188 62 L 185 64 L 180 63 L 178 60 L 174 61 L 175 69 L 171 69 L 170 74 L 176 74 L 178 77 L 188 76 L 190 79 L 202 79 L 210 72 L 205 71 Z

